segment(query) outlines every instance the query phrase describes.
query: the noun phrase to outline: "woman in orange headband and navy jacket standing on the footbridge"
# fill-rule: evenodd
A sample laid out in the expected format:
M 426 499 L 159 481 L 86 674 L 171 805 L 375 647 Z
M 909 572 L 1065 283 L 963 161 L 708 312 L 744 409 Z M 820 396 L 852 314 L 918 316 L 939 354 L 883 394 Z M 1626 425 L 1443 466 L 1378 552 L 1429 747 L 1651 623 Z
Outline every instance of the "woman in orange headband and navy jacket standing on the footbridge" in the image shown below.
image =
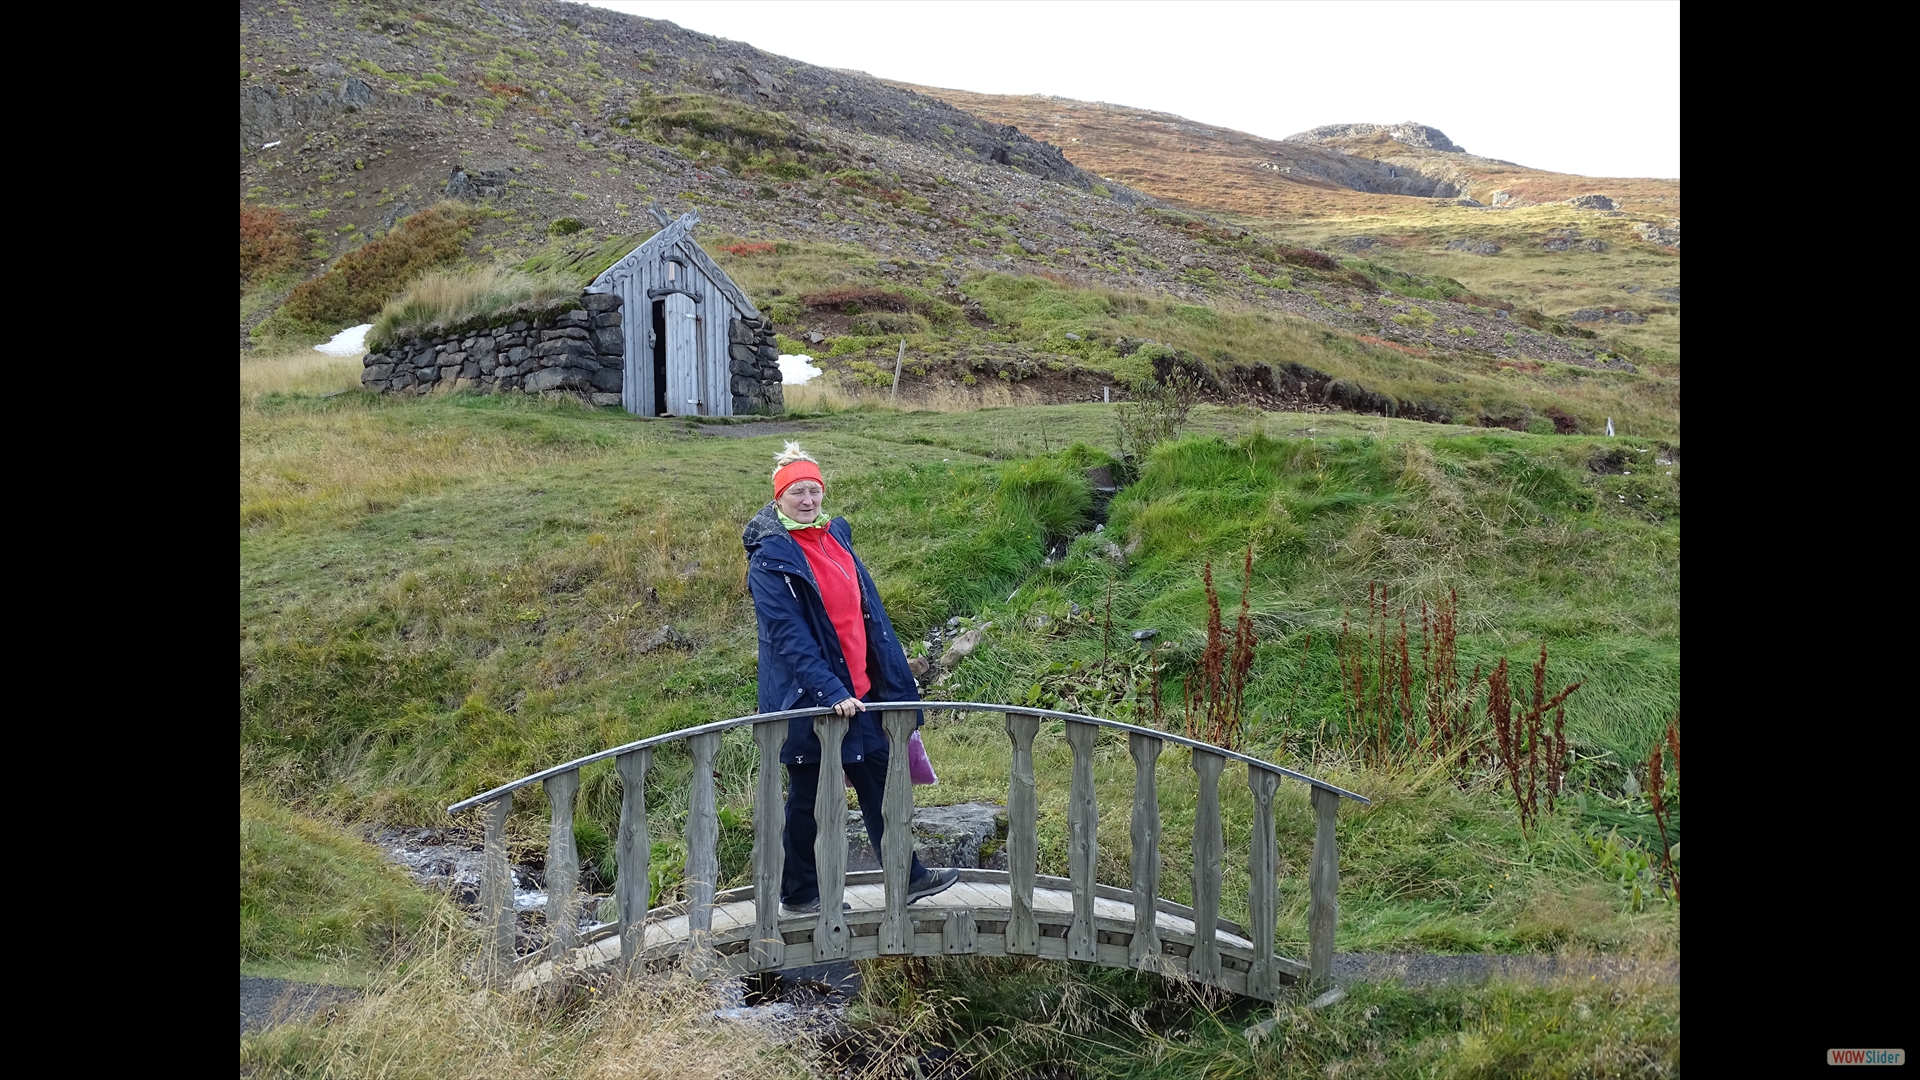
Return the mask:
M 920 688 L 879 603 L 879 590 L 852 553 L 852 527 L 847 519 L 822 513 L 826 480 L 820 465 L 797 442 L 789 442 L 774 465 L 774 502 L 760 507 L 741 534 L 747 588 L 760 625 L 760 711 L 831 705 L 852 719 L 839 765 L 860 798 L 866 836 L 879 851 L 889 746 L 866 701 L 918 701 Z M 789 915 L 820 911 L 814 796 L 822 761 L 810 719 L 791 721 L 780 761 L 787 767 L 787 859 L 780 907 Z M 929 871 L 916 853 L 906 899 L 933 896 L 958 878 L 954 869 Z

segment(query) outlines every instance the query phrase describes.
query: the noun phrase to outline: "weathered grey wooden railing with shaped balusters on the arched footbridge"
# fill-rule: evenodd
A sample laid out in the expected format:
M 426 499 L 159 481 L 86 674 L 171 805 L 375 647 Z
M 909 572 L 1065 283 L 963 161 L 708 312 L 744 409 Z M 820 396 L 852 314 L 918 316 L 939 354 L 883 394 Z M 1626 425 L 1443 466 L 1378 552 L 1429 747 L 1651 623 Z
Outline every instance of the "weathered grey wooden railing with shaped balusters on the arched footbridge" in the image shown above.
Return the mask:
M 1006 857 L 1008 886 L 1012 894 L 1008 920 L 1004 926 L 1004 949 L 1014 955 L 1041 955 L 1041 922 L 1035 915 L 1033 890 L 1039 878 L 1039 788 L 1033 774 L 1033 740 L 1043 719 L 1066 721 L 1068 746 L 1073 751 L 1071 786 L 1068 794 L 1068 869 L 1073 896 L 1073 920 L 1066 928 L 1068 959 L 1098 963 L 1100 932 L 1094 926 L 1094 899 L 1102 894 L 1114 896 L 1119 890 L 1094 882 L 1098 863 L 1098 807 L 1094 805 L 1092 757 L 1100 728 L 1127 732 L 1127 749 L 1135 763 L 1133 790 L 1133 838 L 1131 869 L 1133 890 L 1127 899 L 1133 903 L 1133 934 L 1127 945 L 1127 965 L 1140 969 L 1160 969 L 1164 965 L 1162 942 L 1158 934 L 1158 911 L 1177 907 L 1158 897 L 1160 882 L 1160 792 L 1156 761 L 1167 744 L 1185 746 L 1192 751 L 1192 769 L 1198 776 L 1198 807 L 1194 815 L 1192 838 L 1192 909 L 1194 944 L 1185 957 L 1187 974 L 1200 982 L 1221 982 L 1221 951 L 1217 934 L 1221 928 L 1219 899 L 1225 863 L 1225 840 L 1219 813 L 1219 776 L 1229 761 L 1246 765 L 1246 780 L 1254 798 L 1254 838 L 1250 851 L 1252 892 L 1248 897 L 1248 938 L 1252 940 L 1252 967 L 1246 972 L 1246 994 L 1271 999 L 1283 982 L 1292 982 L 1300 965 L 1281 961 L 1273 955 L 1275 901 L 1279 896 L 1279 851 L 1273 832 L 1273 796 L 1283 778 L 1300 780 L 1311 788 L 1315 834 L 1313 859 L 1308 871 L 1308 970 L 1306 974 L 1323 982 L 1332 970 L 1332 938 L 1338 920 L 1338 847 L 1334 840 L 1334 813 L 1342 798 L 1365 803 L 1367 799 L 1317 780 L 1304 773 L 1261 761 L 1231 749 L 1162 732 L 1085 717 L 1052 709 L 1020 709 L 1008 705 L 989 705 L 979 701 L 877 701 L 868 705 L 881 713 L 881 726 L 895 748 L 904 748 L 914 732 L 914 713 L 918 709 L 945 709 L 960 713 L 1004 713 L 1006 732 L 1014 744 L 1012 776 L 1006 798 Z M 753 901 L 756 926 L 747 942 L 747 953 L 735 963 L 745 963 L 747 970 L 774 970 L 799 963 L 822 963 L 847 959 L 851 955 L 851 934 L 841 899 L 847 884 L 847 788 L 839 769 L 820 771 L 820 788 L 814 801 L 818 834 L 814 840 L 814 859 L 820 878 L 820 915 L 814 920 L 810 945 L 783 940 L 780 928 L 780 878 L 785 859 L 781 832 L 783 815 L 776 807 L 783 803 L 780 786 L 780 748 L 787 738 L 787 724 L 793 719 L 812 719 L 820 736 L 822 761 L 837 761 L 841 742 L 851 721 L 833 715 L 831 709 L 791 709 L 783 713 L 758 713 L 735 717 L 693 728 L 643 738 L 599 753 L 578 757 L 564 765 L 555 765 L 501 784 L 490 792 L 472 796 L 447 807 L 447 813 L 484 807 L 486 811 L 486 855 L 482 863 L 480 907 L 488 926 L 488 967 L 495 980 L 507 982 L 515 969 L 515 905 L 513 872 L 507 865 L 507 815 L 513 809 L 513 794 L 532 784 L 541 784 L 551 805 L 551 830 L 547 838 L 547 944 L 538 957 L 561 959 L 568 949 L 582 944 L 578 920 L 574 917 L 576 890 L 580 884 L 580 853 L 574 846 L 574 798 L 580 792 L 580 769 L 595 761 L 612 759 L 620 776 L 620 826 L 614 838 L 614 901 L 616 919 L 611 930 L 620 942 L 620 963 L 634 969 L 645 951 L 645 920 L 649 915 L 649 859 L 651 836 L 647 832 L 647 771 L 653 767 L 653 751 L 672 742 L 685 742 L 693 757 L 691 788 L 687 792 L 685 826 L 685 892 L 684 909 L 687 919 L 689 961 L 699 969 L 707 959 L 699 955 L 708 949 L 712 936 L 714 886 L 720 878 L 720 817 L 714 794 L 714 757 L 720 749 L 720 736 L 732 728 L 753 726 L 753 740 L 758 748 L 758 774 L 755 782 L 753 815 Z M 885 913 L 877 928 L 877 953 L 897 955 L 914 951 L 914 926 L 908 919 L 908 871 L 912 861 L 912 830 L 908 821 L 914 811 L 914 788 L 908 774 L 908 755 L 897 751 L 887 765 L 887 788 L 881 805 L 885 836 L 879 844 L 881 886 L 885 894 Z M 1181 909 L 1187 915 L 1187 909 Z M 970 936 L 970 934 L 968 934 Z M 948 928 L 948 938 L 952 932 Z M 789 949 L 804 947 L 804 955 L 789 955 Z M 1110 945 L 1112 947 L 1112 945 Z M 948 951 L 956 951 L 948 942 Z M 966 949 L 960 949 L 966 951 Z M 536 957 L 528 957 L 536 959 Z M 1238 978 L 1235 978 L 1238 982 Z

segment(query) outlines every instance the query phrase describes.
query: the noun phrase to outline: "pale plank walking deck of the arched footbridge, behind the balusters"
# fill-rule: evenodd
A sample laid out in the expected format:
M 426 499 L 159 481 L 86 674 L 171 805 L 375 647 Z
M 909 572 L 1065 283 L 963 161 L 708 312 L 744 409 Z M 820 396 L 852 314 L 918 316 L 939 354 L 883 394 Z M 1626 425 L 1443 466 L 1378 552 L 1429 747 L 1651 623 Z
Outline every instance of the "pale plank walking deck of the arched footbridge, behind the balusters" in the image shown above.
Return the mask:
M 1152 967 L 1162 974 L 1185 974 L 1188 957 L 1198 942 L 1194 913 L 1188 907 L 1160 901 L 1154 917 L 1160 936 L 1160 953 L 1142 965 L 1131 963 L 1133 945 L 1133 896 L 1112 886 L 1098 886 L 1094 896 L 1094 926 L 1098 932 L 1098 961 L 1104 967 Z M 849 930 L 849 949 L 845 959 L 879 957 L 879 920 L 887 911 L 885 888 L 879 871 L 847 874 L 845 899 L 851 911 L 845 913 Z M 962 871 L 960 880 L 943 894 L 912 903 L 908 919 L 912 930 L 912 955 L 977 955 L 1004 957 L 1006 922 L 1012 913 L 1012 884 L 1006 871 Z M 1039 953 L 1046 959 L 1068 959 L 1066 930 L 1073 922 L 1073 884 L 1064 878 L 1041 876 L 1033 890 L 1033 915 L 1041 924 Z M 685 905 L 660 907 L 649 913 L 645 922 L 643 963 L 670 961 L 687 953 L 687 913 Z M 783 915 L 780 936 L 785 942 L 785 959 L 770 969 L 781 970 L 822 963 L 814 957 L 814 928 L 818 915 Z M 705 963 L 707 974 L 747 974 L 749 938 L 758 924 L 753 890 L 728 890 L 714 897 L 710 959 Z M 1235 994 L 1248 994 L 1248 972 L 1254 963 L 1254 942 L 1244 928 L 1225 919 L 1215 924 L 1215 947 L 1219 949 L 1219 976 L 1208 982 Z M 616 965 L 620 942 L 614 924 L 605 924 L 586 934 L 582 947 L 570 949 L 561 961 L 528 957 L 528 965 L 513 976 L 515 990 L 530 990 L 555 978 L 561 970 L 586 970 L 601 965 Z M 1294 982 L 1308 974 L 1308 967 L 1273 957 L 1279 982 Z

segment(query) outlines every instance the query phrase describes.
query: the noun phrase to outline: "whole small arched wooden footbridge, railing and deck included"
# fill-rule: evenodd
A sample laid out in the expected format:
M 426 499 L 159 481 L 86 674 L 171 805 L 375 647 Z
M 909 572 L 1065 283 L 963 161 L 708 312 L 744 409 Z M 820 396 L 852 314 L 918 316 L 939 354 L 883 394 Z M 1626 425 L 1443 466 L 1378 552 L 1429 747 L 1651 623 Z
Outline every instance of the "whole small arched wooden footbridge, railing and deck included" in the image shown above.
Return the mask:
M 703 976 L 781 970 L 837 959 L 885 955 L 1037 955 L 1108 967 L 1183 974 L 1248 997 L 1275 999 L 1300 978 L 1323 982 L 1332 967 L 1332 932 L 1338 919 L 1338 851 L 1334 811 L 1342 798 L 1367 799 L 1325 780 L 1283 769 L 1258 757 L 1221 749 L 1169 732 L 1056 713 L 977 701 L 879 701 L 881 724 L 893 746 L 904 746 L 916 709 L 989 711 L 1006 715 L 1014 742 L 1008 782 L 1006 871 L 962 871 L 960 882 L 918 903 L 906 901 L 912 855 L 908 819 L 914 809 L 906 753 L 889 759 L 887 796 L 881 807 L 885 836 L 879 871 L 847 872 L 847 790 L 839 769 L 822 769 L 814 817 L 820 832 L 814 857 L 820 869 L 820 911 L 781 915 L 780 872 L 783 815 L 780 746 L 787 721 L 810 717 L 820 734 L 822 757 L 839 759 L 849 721 L 829 709 L 760 713 L 682 728 L 588 757 L 555 765 L 447 807 L 461 813 L 486 807 L 486 861 L 480 888 L 482 919 L 490 928 L 490 970 L 503 986 L 530 988 L 553 978 L 561 967 L 620 965 L 626 970 L 680 959 Z M 1037 815 L 1039 788 L 1033 774 L 1033 738 L 1043 719 L 1066 721 L 1073 749 L 1068 798 L 1069 876 L 1041 876 Z M 753 726 L 760 753 L 753 815 L 753 884 L 716 892 L 720 876 L 720 819 L 714 805 L 714 755 L 720 736 Z M 1098 853 L 1092 753 L 1100 728 L 1127 732 L 1135 763 L 1131 869 L 1133 888 L 1094 880 Z M 687 799 L 687 899 L 647 909 L 647 769 L 653 751 L 687 742 L 693 776 Z M 1167 746 L 1192 751 L 1198 776 L 1194 815 L 1192 907 L 1154 894 L 1160 882 L 1160 794 L 1154 765 Z M 580 769 L 614 759 L 620 774 L 620 830 L 614 840 L 614 901 L 618 919 L 582 932 L 574 920 L 580 855 L 574 847 L 574 796 Z M 1219 917 L 1225 842 L 1219 817 L 1219 776 L 1229 761 L 1246 765 L 1254 796 L 1254 842 L 1248 853 L 1252 894 L 1248 926 Z M 1273 832 L 1273 796 L 1281 780 L 1300 780 L 1313 790 L 1313 859 L 1308 872 L 1308 963 L 1273 951 L 1279 851 Z M 547 842 L 547 947 L 515 959 L 513 876 L 507 867 L 507 813 L 513 792 L 543 784 L 553 807 Z M 768 813 L 764 807 L 776 807 Z M 841 905 L 849 905 L 847 911 Z

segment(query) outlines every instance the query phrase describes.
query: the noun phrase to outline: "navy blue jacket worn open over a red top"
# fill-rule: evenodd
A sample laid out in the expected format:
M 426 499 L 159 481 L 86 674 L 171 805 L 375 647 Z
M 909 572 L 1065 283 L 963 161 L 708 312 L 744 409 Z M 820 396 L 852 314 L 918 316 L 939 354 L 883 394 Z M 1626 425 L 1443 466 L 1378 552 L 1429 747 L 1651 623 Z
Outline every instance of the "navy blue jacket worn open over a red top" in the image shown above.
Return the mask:
M 828 532 L 852 555 L 852 527 L 845 517 L 828 523 Z M 747 548 L 747 590 L 760 623 L 760 711 L 780 713 L 833 705 L 852 698 L 852 676 L 841 653 L 839 632 L 820 600 L 820 584 L 801 544 L 780 523 L 774 503 L 753 515 L 739 538 Z M 920 686 L 906 653 L 893 632 L 887 609 L 866 563 L 852 555 L 860 573 L 860 607 L 866 613 L 868 701 L 918 701 Z M 820 761 L 820 736 L 810 719 L 789 721 L 787 742 L 780 748 L 787 765 Z M 841 763 L 887 761 L 887 732 L 879 713 L 854 713 L 841 742 Z

